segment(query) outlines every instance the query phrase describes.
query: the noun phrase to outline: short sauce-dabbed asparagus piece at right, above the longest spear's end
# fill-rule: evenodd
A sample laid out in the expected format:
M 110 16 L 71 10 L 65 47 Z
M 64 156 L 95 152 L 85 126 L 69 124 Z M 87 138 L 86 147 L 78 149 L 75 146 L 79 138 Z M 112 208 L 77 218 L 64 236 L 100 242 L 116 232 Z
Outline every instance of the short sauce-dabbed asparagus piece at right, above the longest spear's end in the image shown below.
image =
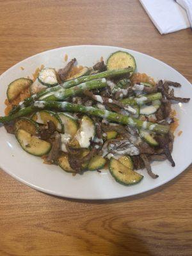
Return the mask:
M 141 97 L 136 97 L 133 99 L 130 99 L 130 98 L 122 99 L 120 100 L 120 102 L 128 105 L 144 105 L 148 102 L 152 102 L 153 100 L 160 100 L 160 99 L 162 99 L 162 94 L 161 92 L 157 92 L 157 93 L 151 93 L 148 95 L 142 95 Z

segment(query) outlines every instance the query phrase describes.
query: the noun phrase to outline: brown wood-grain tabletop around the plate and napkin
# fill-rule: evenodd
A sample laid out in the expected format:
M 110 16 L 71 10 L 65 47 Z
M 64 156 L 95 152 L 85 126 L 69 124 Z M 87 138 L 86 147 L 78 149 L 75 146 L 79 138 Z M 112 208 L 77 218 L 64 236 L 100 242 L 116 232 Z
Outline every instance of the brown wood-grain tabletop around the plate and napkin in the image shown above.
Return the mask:
M 0 10 L 0 74 L 38 52 L 98 44 L 154 56 L 192 82 L 191 30 L 160 35 L 139 1 L 1 0 Z M 94 202 L 45 195 L 0 170 L 0 255 L 190 256 L 191 169 L 143 195 Z

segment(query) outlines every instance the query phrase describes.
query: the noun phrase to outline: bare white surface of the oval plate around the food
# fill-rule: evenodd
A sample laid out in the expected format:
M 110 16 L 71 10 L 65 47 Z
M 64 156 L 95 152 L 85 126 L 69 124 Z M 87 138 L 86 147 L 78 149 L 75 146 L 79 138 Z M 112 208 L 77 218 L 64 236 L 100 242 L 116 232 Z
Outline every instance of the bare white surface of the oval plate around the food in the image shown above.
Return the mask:
M 182 88 L 175 90 L 176 95 L 192 97 L 189 81 L 172 67 L 155 58 L 119 47 L 79 45 L 36 54 L 4 72 L 0 77 L 0 115 L 4 115 L 7 86 L 14 79 L 31 77 L 34 70 L 42 64 L 45 67 L 64 67 L 66 65 L 65 54 L 68 55 L 68 60 L 76 57 L 79 65 L 91 67 L 100 60 L 101 56 L 106 60 L 109 54 L 119 50 L 130 52 L 134 56 L 138 72 L 147 73 L 156 80 L 168 79 L 177 81 L 182 84 Z M 24 67 L 24 70 L 21 70 L 20 67 Z M 180 136 L 176 135 L 174 141 L 172 156 L 176 166 L 173 168 L 168 161 L 153 163 L 152 170 L 159 175 L 157 179 L 151 179 L 143 170 L 141 173 L 144 174 L 144 179 L 139 184 L 126 187 L 115 182 L 109 172 L 104 170 L 102 173 L 86 172 L 83 175 L 74 177 L 70 173 L 62 171 L 58 166 L 43 164 L 40 157 L 31 156 L 24 152 L 15 136 L 6 133 L 4 127 L 0 128 L 0 166 L 5 172 L 24 184 L 57 196 L 81 199 L 110 199 L 143 193 L 172 180 L 191 164 L 192 100 L 188 104 L 175 104 L 174 108 L 177 111 L 180 122 L 179 129 L 175 134 L 180 130 L 182 131 Z

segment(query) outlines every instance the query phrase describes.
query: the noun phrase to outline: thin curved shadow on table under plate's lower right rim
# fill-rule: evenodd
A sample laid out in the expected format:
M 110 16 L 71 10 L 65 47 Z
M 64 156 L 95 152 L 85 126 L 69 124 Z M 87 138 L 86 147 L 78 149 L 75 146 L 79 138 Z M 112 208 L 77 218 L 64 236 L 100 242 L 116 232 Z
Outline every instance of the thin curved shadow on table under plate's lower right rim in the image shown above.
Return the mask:
M 114 202 L 125 202 L 125 201 L 132 201 L 132 200 L 138 200 L 138 199 L 142 199 L 145 198 L 147 196 L 150 195 L 154 195 L 156 193 L 159 193 L 161 191 L 163 191 L 166 188 L 169 188 L 171 186 L 173 186 L 175 183 L 179 182 L 180 179 L 182 179 L 185 175 L 187 175 L 187 172 L 189 171 L 189 168 L 191 168 L 191 165 L 188 166 L 188 168 L 180 173 L 180 175 L 178 175 L 177 177 L 175 177 L 173 180 L 170 180 L 170 182 L 161 185 L 158 188 L 152 189 L 150 191 L 138 194 L 138 195 L 133 195 L 133 196 L 126 196 L 124 198 L 115 198 L 115 199 L 106 199 L 106 200 L 85 200 L 85 199 L 74 199 L 74 198 L 65 198 L 65 197 L 61 197 L 61 196 L 54 196 L 54 195 L 50 195 L 53 197 L 57 197 L 63 200 L 68 200 L 71 202 L 81 202 L 84 204 L 113 204 Z

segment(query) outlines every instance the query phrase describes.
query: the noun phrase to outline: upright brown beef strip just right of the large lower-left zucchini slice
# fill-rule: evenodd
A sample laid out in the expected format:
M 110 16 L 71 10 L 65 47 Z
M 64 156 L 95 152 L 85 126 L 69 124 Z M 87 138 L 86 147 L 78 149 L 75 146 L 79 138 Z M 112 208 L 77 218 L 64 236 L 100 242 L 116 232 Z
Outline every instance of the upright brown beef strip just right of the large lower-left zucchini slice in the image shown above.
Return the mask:
M 61 152 L 61 135 L 59 132 L 54 132 L 54 138 L 52 138 L 52 148 L 47 155 L 47 161 L 55 163 Z

